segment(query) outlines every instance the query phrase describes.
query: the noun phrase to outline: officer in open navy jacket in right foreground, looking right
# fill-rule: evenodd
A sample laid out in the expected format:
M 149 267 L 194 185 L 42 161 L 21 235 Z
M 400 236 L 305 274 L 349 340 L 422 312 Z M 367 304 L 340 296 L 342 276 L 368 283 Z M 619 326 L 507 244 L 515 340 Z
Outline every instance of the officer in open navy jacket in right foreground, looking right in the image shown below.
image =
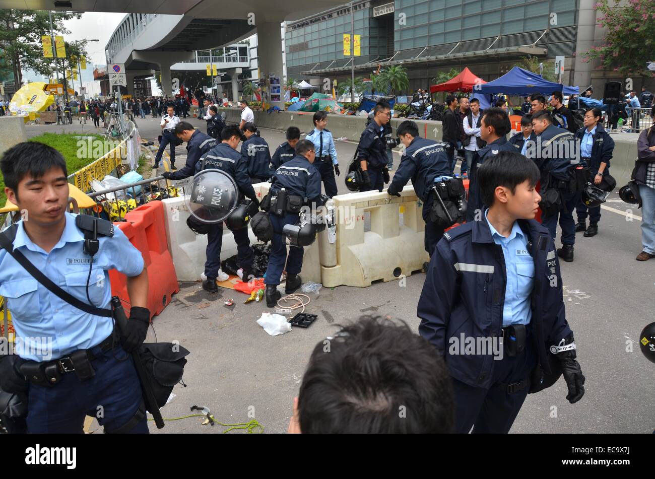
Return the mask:
M 419 334 L 453 376 L 456 431 L 507 433 L 529 391 L 552 385 L 561 370 L 572 404 L 585 378 L 555 244 L 534 221 L 538 169 L 503 151 L 477 175 L 489 208 L 439 241 L 417 308 Z

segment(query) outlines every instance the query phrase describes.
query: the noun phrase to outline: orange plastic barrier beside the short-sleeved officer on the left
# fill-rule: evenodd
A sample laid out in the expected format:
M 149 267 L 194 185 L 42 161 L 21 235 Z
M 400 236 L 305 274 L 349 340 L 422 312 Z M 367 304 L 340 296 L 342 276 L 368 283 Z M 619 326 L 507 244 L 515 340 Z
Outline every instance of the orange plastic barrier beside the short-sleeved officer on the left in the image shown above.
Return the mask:
M 143 262 L 148 270 L 147 308 L 152 319 L 166 308 L 171 296 L 179 291 L 178 276 L 166 243 L 164 205 L 157 201 L 141 205 L 127 213 L 125 220 L 114 224 L 121 228 L 130 243 L 143 255 Z M 111 294 L 123 300 L 123 308 L 129 315 L 126 276 L 117 270 L 111 270 L 109 279 Z

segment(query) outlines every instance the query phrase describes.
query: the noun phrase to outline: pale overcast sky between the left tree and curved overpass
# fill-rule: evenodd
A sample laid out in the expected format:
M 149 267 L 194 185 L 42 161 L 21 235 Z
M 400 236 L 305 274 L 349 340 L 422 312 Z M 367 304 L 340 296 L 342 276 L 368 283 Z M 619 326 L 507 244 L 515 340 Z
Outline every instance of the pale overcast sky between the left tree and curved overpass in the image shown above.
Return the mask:
M 79 20 L 73 19 L 65 22 L 66 28 L 71 31 L 70 35 L 65 35 L 65 40 L 71 42 L 97 38 L 100 40 L 99 42 L 86 44 L 86 51 L 94 64 L 105 65 L 107 63 L 105 61 L 105 45 L 124 16 L 124 13 L 83 13 Z

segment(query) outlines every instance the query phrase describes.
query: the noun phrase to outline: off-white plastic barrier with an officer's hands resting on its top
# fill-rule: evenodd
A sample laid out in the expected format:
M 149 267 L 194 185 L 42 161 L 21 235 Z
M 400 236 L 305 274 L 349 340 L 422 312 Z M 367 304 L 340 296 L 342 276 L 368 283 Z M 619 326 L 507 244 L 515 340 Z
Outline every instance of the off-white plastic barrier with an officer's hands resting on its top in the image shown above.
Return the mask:
M 421 270 L 428 254 L 423 248 L 422 204 L 411 186 L 400 198 L 386 192 L 335 196 L 337 241 L 321 239 L 321 276 L 325 287 L 370 286 Z M 364 231 L 366 213 L 371 230 Z M 402 214 L 402 224 L 401 215 Z

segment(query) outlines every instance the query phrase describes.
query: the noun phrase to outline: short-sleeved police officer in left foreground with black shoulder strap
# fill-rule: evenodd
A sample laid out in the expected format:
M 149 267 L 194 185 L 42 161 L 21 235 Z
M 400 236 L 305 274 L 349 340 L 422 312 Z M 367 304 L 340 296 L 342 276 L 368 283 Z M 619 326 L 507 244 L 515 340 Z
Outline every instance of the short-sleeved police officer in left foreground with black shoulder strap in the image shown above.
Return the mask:
M 109 270 L 116 269 L 127 276 L 129 297 L 122 299 L 131 304 L 128 329 L 119 340 L 111 317 L 65 302 L 0 247 L 0 294 L 12 313 L 18 353 L 0 357 L 0 387 L 28 396 L 29 433 L 83 433 L 86 415 L 97 417 L 107 432 L 147 433 L 140 382 L 125 352 L 140 346 L 150 322 L 140 251 L 119 228 L 111 236 L 112 225 L 97 220 L 98 251 L 86 253 L 88 229 L 66 211 L 66 163 L 52 147 L 19 143 L 5 152 L 0 169 L 7 197 L 26 213 L 25 221 L 2 233 L 14 251 L 95 308 L 109 309 Z

